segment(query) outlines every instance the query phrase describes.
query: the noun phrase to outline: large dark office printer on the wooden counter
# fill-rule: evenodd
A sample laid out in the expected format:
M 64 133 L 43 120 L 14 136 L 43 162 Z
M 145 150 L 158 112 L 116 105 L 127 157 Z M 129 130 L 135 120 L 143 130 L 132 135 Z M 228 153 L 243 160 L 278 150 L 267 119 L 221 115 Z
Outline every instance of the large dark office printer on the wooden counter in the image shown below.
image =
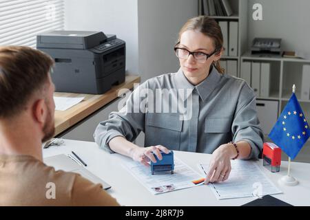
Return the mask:
M 39 34 L 37 49 L 55 61 L 56 91 L 103 94 L 125 81 L 125 41 L 115 35 L 56 30 Z

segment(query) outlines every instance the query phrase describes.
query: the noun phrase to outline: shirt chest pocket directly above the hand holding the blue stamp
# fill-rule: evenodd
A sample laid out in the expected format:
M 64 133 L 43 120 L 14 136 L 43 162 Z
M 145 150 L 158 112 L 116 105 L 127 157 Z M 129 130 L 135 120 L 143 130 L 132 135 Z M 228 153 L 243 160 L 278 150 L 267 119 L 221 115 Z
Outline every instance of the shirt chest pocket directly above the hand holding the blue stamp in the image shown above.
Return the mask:
M 178 150 L 182 126 L 183 120 L 177 113 L 147 113 L 145 146 L 163 145 Z

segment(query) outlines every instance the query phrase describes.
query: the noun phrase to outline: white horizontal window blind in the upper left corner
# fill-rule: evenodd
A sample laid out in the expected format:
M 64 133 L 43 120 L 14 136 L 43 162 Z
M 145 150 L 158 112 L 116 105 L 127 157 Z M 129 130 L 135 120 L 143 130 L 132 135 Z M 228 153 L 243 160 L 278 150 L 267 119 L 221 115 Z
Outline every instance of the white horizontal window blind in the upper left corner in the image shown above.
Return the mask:
M 0 0 L 0 45 L 36 47 L 37 34 L 63 30 L 63 0 Z

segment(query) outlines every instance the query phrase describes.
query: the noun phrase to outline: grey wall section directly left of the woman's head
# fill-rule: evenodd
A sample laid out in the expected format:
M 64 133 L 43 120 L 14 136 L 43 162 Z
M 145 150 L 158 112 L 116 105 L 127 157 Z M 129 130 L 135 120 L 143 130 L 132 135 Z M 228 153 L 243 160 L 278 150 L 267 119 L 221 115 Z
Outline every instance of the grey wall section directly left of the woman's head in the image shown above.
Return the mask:
M 141 81 L 178 70 L 173 51 L 178 31 L 189 18 L 197 15 L 196 0 L 138 0 Z

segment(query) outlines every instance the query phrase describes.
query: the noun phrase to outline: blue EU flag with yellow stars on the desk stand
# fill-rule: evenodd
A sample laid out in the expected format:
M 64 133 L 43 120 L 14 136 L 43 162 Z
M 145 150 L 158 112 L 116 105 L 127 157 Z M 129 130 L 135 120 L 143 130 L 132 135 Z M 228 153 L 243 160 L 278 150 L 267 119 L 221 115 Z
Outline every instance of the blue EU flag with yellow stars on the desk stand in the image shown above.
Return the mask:
M 295 93 L 293 93 L 280 118 L 269 133 L 269 137 L 291 159 L 294 159 L 309 136 L 309 124 Z

